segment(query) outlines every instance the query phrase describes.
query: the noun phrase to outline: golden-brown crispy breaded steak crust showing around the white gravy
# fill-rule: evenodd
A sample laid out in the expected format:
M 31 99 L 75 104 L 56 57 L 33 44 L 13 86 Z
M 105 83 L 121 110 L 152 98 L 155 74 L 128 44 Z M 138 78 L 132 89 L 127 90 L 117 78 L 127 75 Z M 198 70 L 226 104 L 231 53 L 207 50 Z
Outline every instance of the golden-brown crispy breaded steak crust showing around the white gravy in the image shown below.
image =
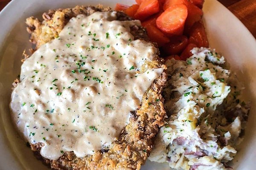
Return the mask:
M 58 10 L 49 10 L 43 14 L 44 21 L 29 17 L 26 20 L 27 31 L 31 34 L 31 42 L 39 48 L 51 41 L 64 28 L 66 23 L 78 14 L 90 15 L 96 11 L 111 11 L 111 8 L 102 6 L 76 6 Z M 122 12 L 117 12 L 117 20 L 131 20 Z M 134 39 L 148 40 L 146 31 L 142 26 L 133 26 L 131 34 Z M 148 62 L 149 68 L 161 68 L 163 59 Z M 143 72 L 143 68 L 141 70 Z M 58 160 L 50 160 L 40 155 L 43 143 L 31 144 L 35 155 L 50 165 L 55 170 L 139 170 L 149 156 L 153 147 L 153 139 L 159 127 L 163 125 L 166 112 L 163 108 L 161 95 L 163 85 L 166 82 L 166 74 L 162 73 L 159 78 L 145 92 L 141 106 L 130 113 L 128 125 L 122 130 L 119 139 L 113 143 L 113 147 L 102 149 L 93 155 L 84 158 L 76 157 L 73 152 L 66 152 Z

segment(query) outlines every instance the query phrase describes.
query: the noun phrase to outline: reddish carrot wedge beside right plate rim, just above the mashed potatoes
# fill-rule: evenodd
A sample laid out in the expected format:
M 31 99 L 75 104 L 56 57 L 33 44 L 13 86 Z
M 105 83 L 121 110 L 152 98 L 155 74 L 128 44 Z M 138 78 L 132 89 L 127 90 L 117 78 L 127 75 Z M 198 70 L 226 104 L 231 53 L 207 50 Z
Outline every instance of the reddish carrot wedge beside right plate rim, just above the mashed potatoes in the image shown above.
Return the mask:
M 198 47 L 209 47 L 207 34 L 202 22 L 197 22 L 192 26 L 189 36 L 189 43 L 194 43 Z

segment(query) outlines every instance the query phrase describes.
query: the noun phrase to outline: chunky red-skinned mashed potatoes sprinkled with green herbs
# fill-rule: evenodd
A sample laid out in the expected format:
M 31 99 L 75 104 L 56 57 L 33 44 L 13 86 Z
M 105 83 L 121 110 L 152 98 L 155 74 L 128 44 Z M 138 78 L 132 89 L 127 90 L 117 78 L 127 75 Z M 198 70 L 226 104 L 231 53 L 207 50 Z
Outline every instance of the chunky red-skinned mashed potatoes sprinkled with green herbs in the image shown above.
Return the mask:
M 149 159 L 175 169 L 225 170 L 247 120 L 243 86 L 209 48 L 194 48 L 185 61 L 167 60 L 163 91 L 169 116 Z

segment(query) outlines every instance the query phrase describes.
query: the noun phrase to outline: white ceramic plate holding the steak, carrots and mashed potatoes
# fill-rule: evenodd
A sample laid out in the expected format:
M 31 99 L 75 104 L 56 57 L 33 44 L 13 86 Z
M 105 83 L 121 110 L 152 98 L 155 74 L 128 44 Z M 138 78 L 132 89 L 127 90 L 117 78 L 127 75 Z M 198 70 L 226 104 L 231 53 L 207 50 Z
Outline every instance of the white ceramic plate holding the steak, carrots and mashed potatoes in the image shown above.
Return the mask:
M 40 17 L 44 11 L 75 5 L 115 6 L 132 4 L 126 0 L 12 0 L 0 12 L 0 170 L 46 170 L 36 160 L 29 147 L 18 137 L 10 116 L 9 101 L 12 82 L 20 73 L 20 59 L 24 49 L 31 47 L 24 23 L 26 17 Z M 128 5 L 130 5 L 128 4 Z M 236 170 L 253 170 L 256 161 L 256 40 L 244 25 L 216 0 L 204 3 L 204 20 L 212 48 L 220 51 L 244 81 L 246 95 L 252 108 L 243 143 L 233 160 Z M 165 164 L 148 161 L 143 170 L 169 169 Z

